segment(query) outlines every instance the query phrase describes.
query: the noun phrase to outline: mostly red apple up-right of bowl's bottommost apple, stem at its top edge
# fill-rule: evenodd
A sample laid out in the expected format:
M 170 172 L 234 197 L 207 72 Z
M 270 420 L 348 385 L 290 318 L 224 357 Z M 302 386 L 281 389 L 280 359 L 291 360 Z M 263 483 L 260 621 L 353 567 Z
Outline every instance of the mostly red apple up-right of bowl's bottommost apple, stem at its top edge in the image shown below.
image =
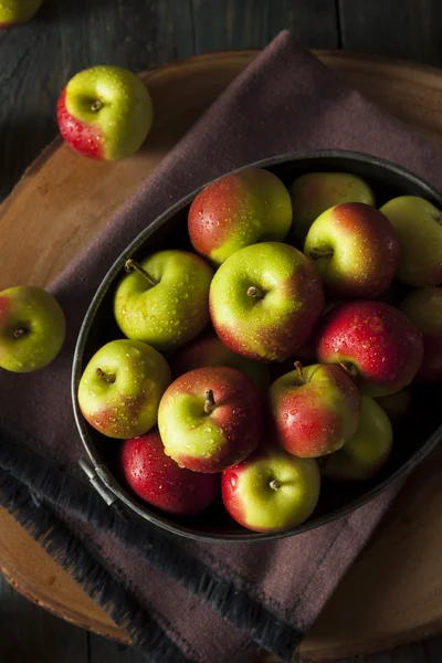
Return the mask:
M 296 361 L 273 382 L 270 403 L 278 442 L 299 457 L 337 451 L 358 429 L 359 390 L 340 366 Z

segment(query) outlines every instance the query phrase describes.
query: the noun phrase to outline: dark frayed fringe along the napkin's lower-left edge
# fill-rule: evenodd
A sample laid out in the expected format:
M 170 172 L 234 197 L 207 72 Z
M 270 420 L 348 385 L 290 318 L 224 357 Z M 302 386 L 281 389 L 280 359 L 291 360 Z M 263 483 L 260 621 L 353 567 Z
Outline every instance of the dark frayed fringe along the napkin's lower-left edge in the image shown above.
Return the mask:
M 94 559 L 78 538 L 60 522 L 51 512 L 51 505 L 136 550 L 154 568 L 167 573 L 192 596 L 208 602 L 222 618 L 282 661 L 290 663 L 304 635 L 295 624 L 277 620 L 241 586 L 207 567 L 160 528 L 136 519 L 123 520 L 88 484 L 24 446 L 9 425 L 0 429 L 0 503 L 146 652 L 151 653 L 149 648 L 156 638 L 160 643 L 159 625 L 155 623 L 155 638 L 143 642 L 146 628 L 150 628 L 147 623 L 151 623 L 152 618 L 137 607 L 135 598 L 112 578 L 103 561 Z M 76 560 L 75 567 L 72 565 L 73 558 Z M 99 578 L 98 582 L 96 578 Z M 106 598 L 103 598 L 104 586 Z M 165 638 L 161 648 L 175 646 L 161 632 Z M 180 656 L 172 660 L 177 663 L 187 661 L 182 653 Z

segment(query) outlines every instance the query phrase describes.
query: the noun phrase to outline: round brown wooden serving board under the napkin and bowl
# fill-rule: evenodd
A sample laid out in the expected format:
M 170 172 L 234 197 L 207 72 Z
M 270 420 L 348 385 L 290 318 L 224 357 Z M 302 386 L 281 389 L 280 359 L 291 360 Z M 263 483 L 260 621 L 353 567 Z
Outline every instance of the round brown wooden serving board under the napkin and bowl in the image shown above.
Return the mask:
M 18 283 L 44 285 L 56 276 L 255 55 L 214 53 L 144 74 L 156 119 L 146 145 L 130 159 L 91 161 L 56 139 L 0 208 L 0 290 Z M 351 85 L 442 145 L 442 72 L 338 51 L 318 55 Z M 441 460 L 439 449 L 408 481 L 308 633 L 302 649 L 306 660 L 336 661 L 442 632 Z M 128 641 L 2 509 L 0 569 L 48 610 Z

